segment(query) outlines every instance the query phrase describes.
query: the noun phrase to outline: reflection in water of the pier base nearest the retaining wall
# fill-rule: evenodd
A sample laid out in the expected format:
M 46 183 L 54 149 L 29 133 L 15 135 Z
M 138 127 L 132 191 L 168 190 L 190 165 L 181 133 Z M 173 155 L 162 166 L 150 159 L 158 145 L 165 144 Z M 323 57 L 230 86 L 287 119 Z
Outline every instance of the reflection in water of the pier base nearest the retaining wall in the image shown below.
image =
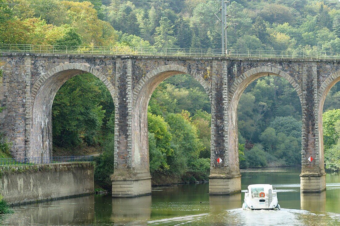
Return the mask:
M 151 196 L 112 199 L 111 219 L 114 223 L 145 222 L 150 219 L 150 215 Z

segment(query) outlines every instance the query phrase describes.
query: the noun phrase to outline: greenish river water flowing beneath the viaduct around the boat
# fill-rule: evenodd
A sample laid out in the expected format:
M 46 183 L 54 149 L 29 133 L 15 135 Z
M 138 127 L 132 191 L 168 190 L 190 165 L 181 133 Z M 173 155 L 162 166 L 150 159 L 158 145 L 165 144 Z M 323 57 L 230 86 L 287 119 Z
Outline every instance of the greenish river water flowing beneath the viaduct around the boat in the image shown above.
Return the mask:
M 242 210 L 244 193 L 209 196 L 209 184 L 152 188 L 152 196 L 90 195 L 14 207 L 1 226 L 106 225 L 340 225 L 340 173 L 327 172 L 327 190 L 300 193 L 299 168 L 242 171 L 249 184 L 272 184 L 281 210 Z

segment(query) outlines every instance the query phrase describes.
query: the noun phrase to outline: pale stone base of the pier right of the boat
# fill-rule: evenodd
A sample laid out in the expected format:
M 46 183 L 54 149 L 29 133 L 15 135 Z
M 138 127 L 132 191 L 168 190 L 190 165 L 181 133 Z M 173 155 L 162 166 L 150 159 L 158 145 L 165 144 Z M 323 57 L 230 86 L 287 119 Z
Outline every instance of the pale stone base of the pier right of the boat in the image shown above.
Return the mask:
M 326 173 L 301 173 L 301 192 L 322 192 L 326 190 Z

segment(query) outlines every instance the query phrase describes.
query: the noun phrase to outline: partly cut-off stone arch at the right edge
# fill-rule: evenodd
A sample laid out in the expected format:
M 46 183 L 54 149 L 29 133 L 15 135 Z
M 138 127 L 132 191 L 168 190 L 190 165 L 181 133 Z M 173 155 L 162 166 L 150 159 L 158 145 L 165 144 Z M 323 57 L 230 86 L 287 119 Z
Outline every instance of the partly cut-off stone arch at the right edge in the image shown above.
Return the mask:
M 331 74 L 320 86 L 318 90 L 318 122 L 317 128 L 319 131 L 319 165 L 324 165 L 324 145 L 323 145 L 323 126 L 322 112 L 329 90 L 340 81 L 340 71 Z

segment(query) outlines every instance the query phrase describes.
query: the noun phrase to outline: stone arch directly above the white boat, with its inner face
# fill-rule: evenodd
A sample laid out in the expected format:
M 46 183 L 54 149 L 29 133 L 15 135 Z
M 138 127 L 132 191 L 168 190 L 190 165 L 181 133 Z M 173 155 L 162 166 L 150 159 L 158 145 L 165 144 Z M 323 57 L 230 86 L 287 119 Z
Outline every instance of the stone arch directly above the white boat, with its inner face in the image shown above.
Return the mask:
M 226 154 L 231 155 L 234 159 L 238 160 L 238 136 L 237 136 L 237 106 L 240 97 L 245 88 L 255 81 L 256 79 L 270 75 L 276 75 L 283 77 L 294 87 L 297 96 L 300 98 L 302 105 L 302 90 L 297 82 L 286 72 L 270 66 L 256 67 L 243 73 L 239 78 L 235 80 L 233 85 L 229 88 L 228 100 L 229 100 L 229 112 L 228 112 L 228 151 Z M 239 165 L 238 165 L 239 166 Z

